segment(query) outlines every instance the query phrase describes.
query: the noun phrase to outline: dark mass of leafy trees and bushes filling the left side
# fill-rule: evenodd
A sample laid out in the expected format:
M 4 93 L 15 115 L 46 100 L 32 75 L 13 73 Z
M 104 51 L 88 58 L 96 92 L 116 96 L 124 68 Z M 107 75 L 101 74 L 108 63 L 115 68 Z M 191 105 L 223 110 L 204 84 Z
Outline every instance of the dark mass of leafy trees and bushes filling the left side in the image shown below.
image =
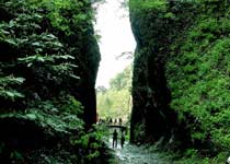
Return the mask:
M 0 0 L 1 162 L 106 163 L 82 101 L 100 60 L 92 19 L 88 0 Z

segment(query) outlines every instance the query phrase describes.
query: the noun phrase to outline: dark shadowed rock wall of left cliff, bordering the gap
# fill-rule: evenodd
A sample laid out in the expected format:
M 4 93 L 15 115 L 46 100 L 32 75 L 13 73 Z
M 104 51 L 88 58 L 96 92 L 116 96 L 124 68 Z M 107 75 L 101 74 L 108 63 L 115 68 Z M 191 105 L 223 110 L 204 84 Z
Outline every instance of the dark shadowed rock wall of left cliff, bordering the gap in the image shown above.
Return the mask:
M 94 37 L 91 2 L 89 0 L 73 0 L 72 2 L 70 1 L 70 3 L 77 4 L 74 10 L 66 11 L 72 16 L 72 22 L 69 22 L 70 34 L 62 34 L 60 31 L 57 31 L 57 33 L 59 33 L 65 46 L 70 49 L 70 55 L 74 57 L 74 63 L 78 66 L 74 73 L 78 74 L 80 79 L 78 81 L 70 81 L 70 84 L 64 87 L 68 87 L 71 94 L 82 103 L 84 107 L 83 119 L 87 127 L 91 127 L 92 124 L 96 122 L 96 97 L 94 86 L 101 55 L 97 40 Z M 64 13 L 64 16 L 68 19 L 68 14 L 65 14 L 67 13 Z

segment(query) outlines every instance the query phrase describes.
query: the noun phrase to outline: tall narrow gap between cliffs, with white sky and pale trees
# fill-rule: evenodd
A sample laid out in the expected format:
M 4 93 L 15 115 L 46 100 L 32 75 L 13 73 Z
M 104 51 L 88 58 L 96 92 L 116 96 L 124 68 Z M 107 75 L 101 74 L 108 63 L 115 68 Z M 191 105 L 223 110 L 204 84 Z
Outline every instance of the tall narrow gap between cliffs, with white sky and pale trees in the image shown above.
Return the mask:
M 99 121 L 129 126 L 131 73 L 136 42 L 131 32 L 128 1 L 95 2 L 94 30 L 101 62 L 96 79 Z

